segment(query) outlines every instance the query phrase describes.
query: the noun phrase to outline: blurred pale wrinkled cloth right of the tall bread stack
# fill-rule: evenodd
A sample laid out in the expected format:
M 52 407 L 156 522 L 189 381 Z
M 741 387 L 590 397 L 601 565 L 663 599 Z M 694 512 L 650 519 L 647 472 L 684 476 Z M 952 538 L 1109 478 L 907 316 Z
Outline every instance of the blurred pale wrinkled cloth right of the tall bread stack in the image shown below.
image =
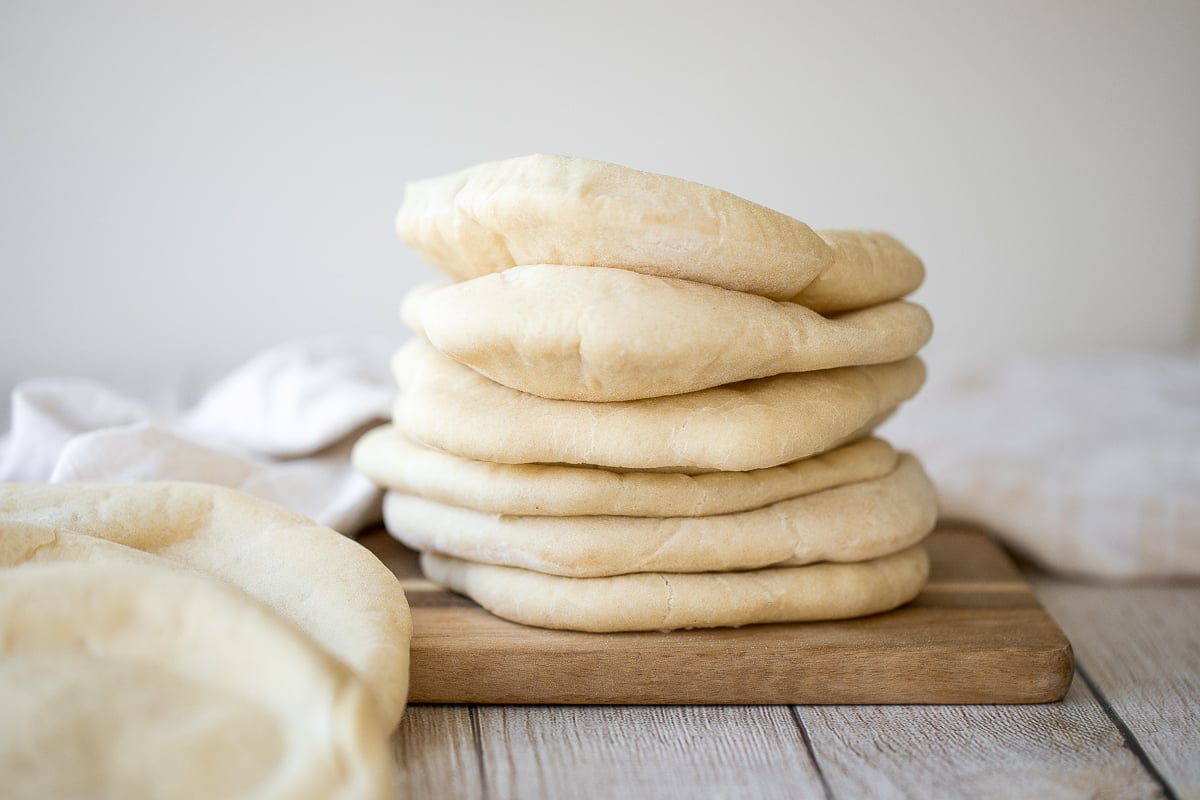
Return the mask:
M 1200 577 L 1200 350 L 937 368 L 882 429 L 943 519 L 1103 578 Z

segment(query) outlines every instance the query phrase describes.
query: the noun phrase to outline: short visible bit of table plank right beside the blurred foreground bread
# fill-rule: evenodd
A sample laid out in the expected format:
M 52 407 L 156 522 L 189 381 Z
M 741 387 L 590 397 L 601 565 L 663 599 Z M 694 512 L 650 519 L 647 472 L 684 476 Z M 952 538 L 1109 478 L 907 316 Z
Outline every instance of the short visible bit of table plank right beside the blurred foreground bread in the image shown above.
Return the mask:
M 392 796 L 487 796 L 469 708 L 410 705 L 391 742 L 397 768 Z

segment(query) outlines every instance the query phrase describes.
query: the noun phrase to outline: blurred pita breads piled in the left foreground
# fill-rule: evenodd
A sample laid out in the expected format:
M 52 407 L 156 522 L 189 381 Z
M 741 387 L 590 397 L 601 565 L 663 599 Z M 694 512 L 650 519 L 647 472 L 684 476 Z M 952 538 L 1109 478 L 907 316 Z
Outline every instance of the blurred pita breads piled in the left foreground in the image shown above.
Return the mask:
M 199 483 L 0 486 L 6 798 L 384 798 L 412 619 L 329 528 Z

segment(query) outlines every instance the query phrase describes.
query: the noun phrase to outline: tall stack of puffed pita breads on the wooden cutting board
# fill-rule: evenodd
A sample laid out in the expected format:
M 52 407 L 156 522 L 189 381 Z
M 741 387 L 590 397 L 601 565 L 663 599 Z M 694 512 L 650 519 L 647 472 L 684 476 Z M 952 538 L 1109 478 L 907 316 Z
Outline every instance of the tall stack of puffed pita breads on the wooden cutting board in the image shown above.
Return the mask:
M 412 184 L 397 227 L 452 282 L 404 299 L 392 425 L 354 461 L 431 581 L 582 631 L 919 591 L 934 488 L 871 437 L 925 377 L 899 241 L 558 156 Z

